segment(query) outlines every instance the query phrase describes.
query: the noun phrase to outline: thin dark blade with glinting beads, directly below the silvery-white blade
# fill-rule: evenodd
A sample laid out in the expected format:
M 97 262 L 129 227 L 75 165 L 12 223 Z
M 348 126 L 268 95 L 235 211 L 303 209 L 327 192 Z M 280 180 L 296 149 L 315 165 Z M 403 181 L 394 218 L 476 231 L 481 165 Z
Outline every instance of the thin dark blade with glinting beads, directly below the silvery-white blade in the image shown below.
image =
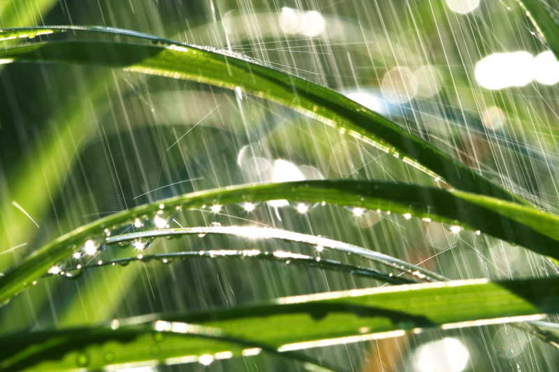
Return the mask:
M 210 251 L 187 251 L 187 252 L 172 252 L 172 253 L 158 253 L 154 255 L 138 254 L 134 257 L 116 258 L 115 260 L 105 260 L 99 263 L 90 265 L 80 265 L 80 267 L 64 267 L 61 268 L 60 275 L 66 278 L 76 278 L 83 270 L 94 269 L 103 266 L 126 266 L 130 262 L 141 261 L 151 262 L 153 260 L 163 262 L 164 264 L 170 263 L 175 258 L 181 260 L 198 260 L 198 259 L 219 259 L 219 258 L 241 258 L 242 260 L 266 260 L 271 262 L 283 262 L 290 265 L 300 265 L 303 267 L 318 267 L 319 269 L 332 270 L 337 272 L 344 272 L 350 275 L 363 276 L 365 278 L 374 278 L 379 281 L 391 284 L 409 284 L 415 283 L 400 276 L 385 274 L 382 271 L 370 269 L 368 267 L 359 267 L 355 265 L 344 264 L 340 261 L 329 260 L 328 258 L 315 258 L 310 255 L 303 255 L 300 253 L 293 253 L 287 251 L 259 251 L 258 249 L 243 249 L 242 251 L 235 249 L 212 249 Z M 78 274 L 75 274 L 78 273 Z M 45 276 L 55 276 L 55 274 L 45 274 Z

